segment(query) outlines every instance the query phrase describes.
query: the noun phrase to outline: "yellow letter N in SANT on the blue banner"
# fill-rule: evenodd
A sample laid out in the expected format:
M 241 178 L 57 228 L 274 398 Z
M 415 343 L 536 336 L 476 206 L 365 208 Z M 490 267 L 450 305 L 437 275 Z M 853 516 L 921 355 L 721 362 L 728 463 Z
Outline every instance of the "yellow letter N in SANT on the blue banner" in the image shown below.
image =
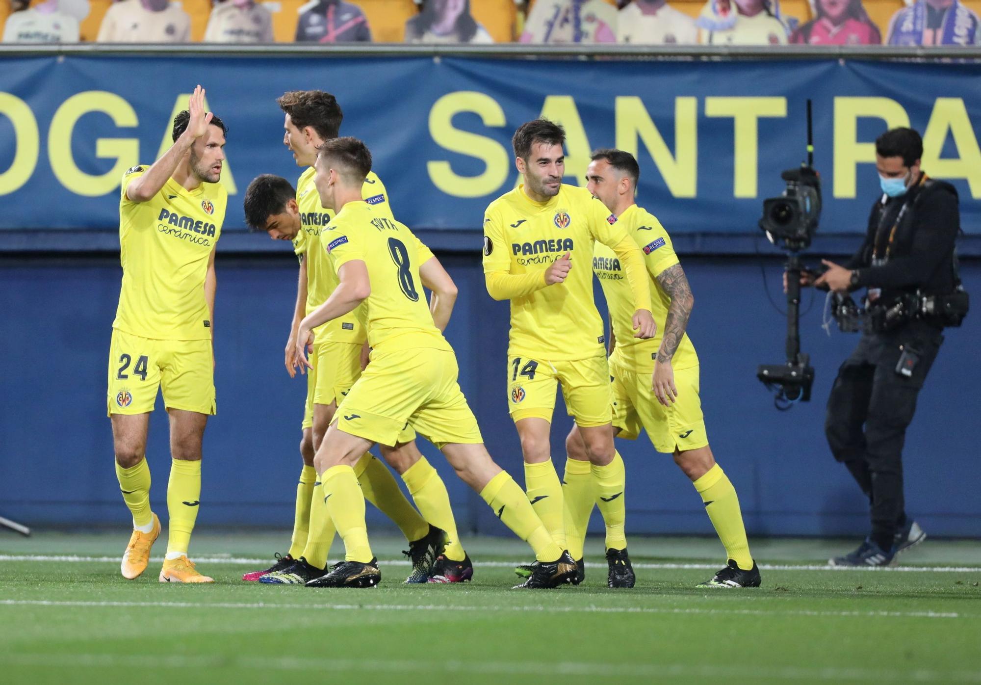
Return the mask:
M 654 166 L 675 197 L 695 197 L 698 187 L 698 101 L 675 98 L 675 153 L 671 154 L 641 98 L 616 98 L 616 146 L 635 157 L 644 141 Z

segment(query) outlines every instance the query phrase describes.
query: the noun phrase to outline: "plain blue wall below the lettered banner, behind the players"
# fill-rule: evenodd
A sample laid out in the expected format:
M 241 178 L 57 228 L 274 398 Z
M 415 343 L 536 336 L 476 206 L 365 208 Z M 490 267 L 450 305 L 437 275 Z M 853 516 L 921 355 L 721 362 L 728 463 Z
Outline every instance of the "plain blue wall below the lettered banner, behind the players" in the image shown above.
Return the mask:
M 255 237 L 263 239 L 265 237 Z M 479 256 L 440 255 L 460 297 L 448 338 L 461 385 L 491 452 L 521 480 L 521 455 L 506 413 L 508 306 L 484 289 Z M 779 412 L 755 380 L 759 363 L 784 354 L 785 324 L 764 292 L 758 258 L 685 256 L 696 293 L 692 339 L 701 360 L 709 438 L 736 484 L 752 534 L 865 532 L 865 503 L 823 437 L 824 401 L 856 338 L 820 329 L 823 295 L 805 293 L 803 349 L 817 369 L 814 400 Z M 769 295 L 782 304 L 780 262 L 765 262 Z M 219 255 L 216 313 L 218 416 L 205 435 L 200 525 L 288 527 L 300 467 L 303 379 L 290 380 L 283 345 L 295 288 L 287 254 Z M 126 525 L 105 417 L 110 326 L 121 269 L 112 254 L 0 257 L 0 514 L 32 525 Z M 981 263 L 963 264 L 981 292 Z M 601 302 L 601 296 L 597 302 Z M 932 535 L 977 536 L 981 481 L 976 399 L 981 371 L 973 352 L 981 314 L 972 312 L 947 342 L 920 395 L 905 447 L 907 508 Z M 169 471 L 163 407 L 151 420 L 147 454 L 152 500 L 166 508 Z M 571 425 L 557 399 L 553 454 L 564 461 Z M 629 469 L 633 533 L 708 533 L 701 501 L 670 456 L 642 438 L 618 442 Z M 457 480 L 435 449 L 461 529 L 504 533 L 483 501 Z M 370 522 L 384 521 L 376 511 Z M 598 515 L 594 531 L 601 530 Z

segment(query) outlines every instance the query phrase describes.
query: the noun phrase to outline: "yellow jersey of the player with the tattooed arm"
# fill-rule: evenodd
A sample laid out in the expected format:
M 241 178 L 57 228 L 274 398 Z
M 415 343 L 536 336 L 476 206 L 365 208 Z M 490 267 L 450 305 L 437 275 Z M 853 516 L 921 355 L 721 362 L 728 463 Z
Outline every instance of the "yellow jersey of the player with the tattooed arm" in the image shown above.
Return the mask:
M 650 313 L 657 323 L 657 334 L 645 341 L 634 338 L 634 299 L 627 277 L 613 250 L 597 242 L 593 252 L 593 271 L 606 297 L 616 342 L 610 359 L 632 371 L 653 371 L 654 359 L 664 337 L 664 321 L 671 306 L 671 298 L 661 290 L 657 277 L 668 267 L 678 264 L 678 255 L 671 244 L 671 237 L 660 222 L 636 204 L 620 215 L 617 225 L 626 229 L 644 252 L 644 263 L 650 277 Z M 687 369 L 697 364 L 695 345 L 686 333 L 678 343 L 671 366 Z

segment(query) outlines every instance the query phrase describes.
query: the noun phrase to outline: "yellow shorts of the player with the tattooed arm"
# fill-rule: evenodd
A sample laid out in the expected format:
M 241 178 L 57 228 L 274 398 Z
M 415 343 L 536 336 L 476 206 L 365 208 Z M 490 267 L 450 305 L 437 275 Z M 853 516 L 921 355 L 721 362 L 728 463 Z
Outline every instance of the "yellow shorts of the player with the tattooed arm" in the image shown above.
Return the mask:
M 650 373 L 625 369 L 610 362 L 613 377 L 613 427 L 618 438 L 637 440 L 643 428 L 654 449 L 674 453 L 708 445 L 698 398 L 698 367 L 675 369 L 678 396 L 664 406 L 651 388 Z

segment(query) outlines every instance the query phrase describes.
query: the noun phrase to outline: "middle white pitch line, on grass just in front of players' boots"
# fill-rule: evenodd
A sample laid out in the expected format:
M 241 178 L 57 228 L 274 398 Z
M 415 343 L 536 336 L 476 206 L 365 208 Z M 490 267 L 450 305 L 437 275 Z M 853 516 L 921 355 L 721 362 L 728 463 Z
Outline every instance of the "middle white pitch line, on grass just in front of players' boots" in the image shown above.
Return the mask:
M 469 611 L 469 612 L 524 612 L 542 613 L 668 613 L 668 614 L 735 614 L 750 616 L 834 616 L 849 618 L 973 618 L 954 611 L 812 611 L 808 609 L 765 610 L 751 608 L 671 608 L 657 606 L 473 606 L 473 605 L 342 605 L 282 602 L 85 602 L 81 600 L 0 600 L 0 606 L 113 606 L 113 607 L 163 607 L 163 608 L 246 608 L 246 609 L 336 609 L 339 611 Z

